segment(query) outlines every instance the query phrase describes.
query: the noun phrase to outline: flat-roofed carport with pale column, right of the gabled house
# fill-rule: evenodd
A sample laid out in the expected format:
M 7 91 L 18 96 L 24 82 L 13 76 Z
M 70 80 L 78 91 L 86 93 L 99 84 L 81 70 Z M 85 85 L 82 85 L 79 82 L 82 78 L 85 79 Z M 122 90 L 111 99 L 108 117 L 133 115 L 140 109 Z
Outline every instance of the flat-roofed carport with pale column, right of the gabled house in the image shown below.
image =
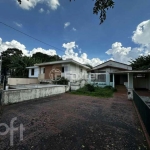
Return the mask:
M 150 70 L 116 71 L 112 73 L 112 76 L 113 87 L 116 84 L 126 86 L 128 99 L 133 99 L 133 89 L 150 90 Z

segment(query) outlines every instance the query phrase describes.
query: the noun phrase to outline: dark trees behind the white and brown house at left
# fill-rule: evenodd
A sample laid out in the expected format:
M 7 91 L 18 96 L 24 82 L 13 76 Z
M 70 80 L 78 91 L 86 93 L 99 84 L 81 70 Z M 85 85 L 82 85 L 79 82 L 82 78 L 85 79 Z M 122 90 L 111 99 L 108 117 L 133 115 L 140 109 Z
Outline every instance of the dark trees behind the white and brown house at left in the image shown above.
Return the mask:
M 33 66 L 37 63 L 62 60 L 58 55 L 49 56 L 37 52 L 32 57 L 23 56 L 21 50 L 16 48 L 8 48 L 2 52 L 2 80 L 8 72 L 11 77 L 28 77 L 28 69 L 26 67 Z

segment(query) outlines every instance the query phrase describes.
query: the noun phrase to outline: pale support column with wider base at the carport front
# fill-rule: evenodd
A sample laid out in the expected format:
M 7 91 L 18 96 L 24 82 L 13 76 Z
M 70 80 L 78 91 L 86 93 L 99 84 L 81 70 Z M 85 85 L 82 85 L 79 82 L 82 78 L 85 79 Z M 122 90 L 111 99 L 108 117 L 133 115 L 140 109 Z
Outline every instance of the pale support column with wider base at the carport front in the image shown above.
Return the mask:
M 133 99 L 133 73 L 128 73 L 128 99 Z

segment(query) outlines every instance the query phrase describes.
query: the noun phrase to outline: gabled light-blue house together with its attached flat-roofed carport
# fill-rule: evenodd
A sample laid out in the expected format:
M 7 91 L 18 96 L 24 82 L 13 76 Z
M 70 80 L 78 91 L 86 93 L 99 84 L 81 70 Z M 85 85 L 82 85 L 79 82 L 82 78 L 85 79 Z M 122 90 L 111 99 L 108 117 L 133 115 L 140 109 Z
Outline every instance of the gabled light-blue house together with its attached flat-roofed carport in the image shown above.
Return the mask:
M 130 65 L 109 60 L 91 70 L 89 83 L 100 86 L 125 85 L 128 98 L 132 98 L 133 89 L 150 90 L 150 70 L 132 70 Z

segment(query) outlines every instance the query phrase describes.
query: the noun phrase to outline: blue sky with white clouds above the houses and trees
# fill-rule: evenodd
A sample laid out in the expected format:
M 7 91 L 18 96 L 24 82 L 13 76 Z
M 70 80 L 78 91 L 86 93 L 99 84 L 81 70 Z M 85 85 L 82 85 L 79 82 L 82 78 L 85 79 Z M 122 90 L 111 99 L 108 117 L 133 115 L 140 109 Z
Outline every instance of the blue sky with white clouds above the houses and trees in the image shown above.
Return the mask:
M 128 63 L 150 53 L 149 0 L 115 0 L 102 25 L 93 15 L 92 0 L 22 1 L 18 5 L 16 0 L 1 0 L 0 21 L 56 48 L 0 24 L 0 51 L 16 47 L 25 54 L 57 53 L 91 65 L 108 59 Z

